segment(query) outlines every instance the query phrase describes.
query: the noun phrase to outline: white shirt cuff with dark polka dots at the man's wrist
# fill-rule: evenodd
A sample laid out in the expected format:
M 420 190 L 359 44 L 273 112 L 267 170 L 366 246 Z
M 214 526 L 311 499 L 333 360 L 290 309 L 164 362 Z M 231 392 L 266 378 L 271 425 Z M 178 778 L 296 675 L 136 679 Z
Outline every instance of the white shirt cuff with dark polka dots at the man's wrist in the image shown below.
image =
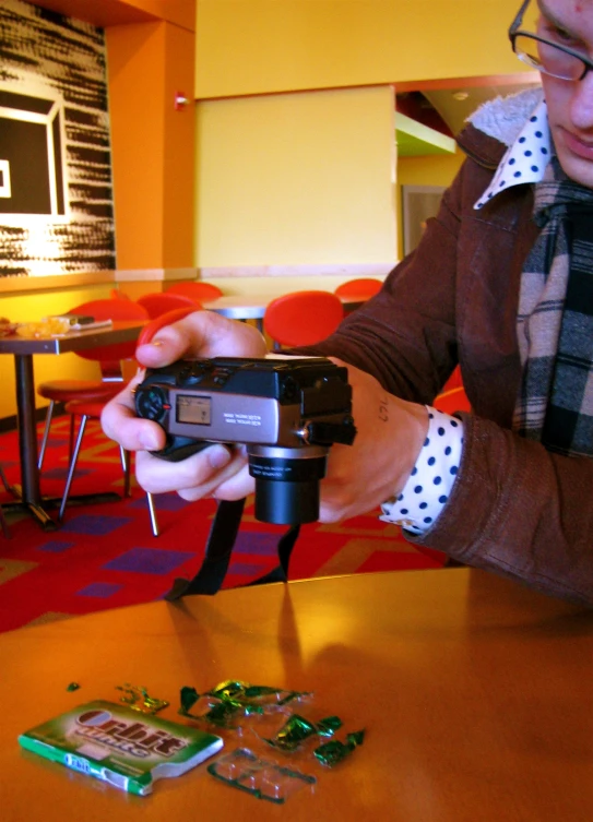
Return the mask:
M 430 528 L 447 504 L 463 451 L 463 422 L 426 406 L 428 433 L 402 492 L 381 505 L 383 522 L 413 534 Z

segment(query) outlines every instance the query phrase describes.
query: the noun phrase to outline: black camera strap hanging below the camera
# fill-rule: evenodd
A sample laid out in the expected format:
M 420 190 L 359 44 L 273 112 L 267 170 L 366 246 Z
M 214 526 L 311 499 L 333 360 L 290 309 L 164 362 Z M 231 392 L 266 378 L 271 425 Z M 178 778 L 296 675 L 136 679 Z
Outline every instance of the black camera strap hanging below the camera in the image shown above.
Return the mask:
M 245 499 L 221 500 L 207 537 L 202 565 L 192 580 L 178 577 L 165 599 L 174 603 L 188 594 L 216 594 L 223 585 L 233 546 L 241 523 Z M 292 525 L 277 544 L 278 564 L 269 573 L 258 577 L 249 585 L 263 585 L 269 582 L 288 582 L 288 563 L 297 540 L 299 525 Z

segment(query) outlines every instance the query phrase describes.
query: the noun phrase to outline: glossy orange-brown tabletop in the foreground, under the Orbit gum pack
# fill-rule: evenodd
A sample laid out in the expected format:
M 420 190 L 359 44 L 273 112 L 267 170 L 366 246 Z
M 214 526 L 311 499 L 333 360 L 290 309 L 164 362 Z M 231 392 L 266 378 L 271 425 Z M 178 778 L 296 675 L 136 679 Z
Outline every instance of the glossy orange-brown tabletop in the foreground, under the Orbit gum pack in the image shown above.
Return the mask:
M 3 822 L 593 818 L 593 611 L 486 571 L 358 573 L 152 601 L 3 633 L 0 658 Z M 223 682 L 294 699 L 222 729 L 203 710 L 179 713 L 186 689 Z M 134 688 L 168 703 L 158 717 L 213 732 L 223 749 L 141 797 L 17 742 L 95 700 L 121 705 Z M 276 729 L 295 716 L 313 730 L 285 750 Z M 334 764 L 315 753 L 328 741 Z M 240 751 L 293 779 L 269 778 L 258 797 L 256 776 L 228 763 Z

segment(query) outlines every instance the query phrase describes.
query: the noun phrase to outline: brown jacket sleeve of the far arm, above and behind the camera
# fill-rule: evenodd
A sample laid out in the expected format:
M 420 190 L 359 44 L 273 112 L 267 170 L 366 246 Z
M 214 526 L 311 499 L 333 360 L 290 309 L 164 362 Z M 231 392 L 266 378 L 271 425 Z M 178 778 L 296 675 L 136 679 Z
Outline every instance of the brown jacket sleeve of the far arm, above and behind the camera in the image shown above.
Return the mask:
M 455 271 L 463 172 L 418 248 L 330 337 L 295 353 L 335 356 L 372 373 L 392 394 L 429 403 L 458 361 Z

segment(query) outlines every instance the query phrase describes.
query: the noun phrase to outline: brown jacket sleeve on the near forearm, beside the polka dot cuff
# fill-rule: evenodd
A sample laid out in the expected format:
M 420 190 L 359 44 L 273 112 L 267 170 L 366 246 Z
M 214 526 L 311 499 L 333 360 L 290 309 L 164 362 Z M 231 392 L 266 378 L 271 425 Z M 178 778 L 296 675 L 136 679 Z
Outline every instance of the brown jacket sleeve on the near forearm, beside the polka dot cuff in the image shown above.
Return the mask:
M 553 454 L 463 414 L 464 448 L 435 527 L 411 541 L 593 606 L 593 460 Z

